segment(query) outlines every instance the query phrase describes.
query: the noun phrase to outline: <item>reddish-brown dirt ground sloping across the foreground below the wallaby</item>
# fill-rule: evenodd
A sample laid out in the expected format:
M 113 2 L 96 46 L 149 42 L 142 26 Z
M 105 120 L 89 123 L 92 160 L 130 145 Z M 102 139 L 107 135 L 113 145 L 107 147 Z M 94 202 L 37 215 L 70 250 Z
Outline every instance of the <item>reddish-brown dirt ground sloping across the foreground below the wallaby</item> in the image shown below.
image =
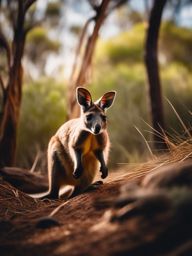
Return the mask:
M 0 255 L 192 255 L 191 197 L 182 211 L 164 192 L 127 200 L 122 188 L 140 186 L 141 172 L 115 174 L 66 202 L 32 199 L 1 179 Z

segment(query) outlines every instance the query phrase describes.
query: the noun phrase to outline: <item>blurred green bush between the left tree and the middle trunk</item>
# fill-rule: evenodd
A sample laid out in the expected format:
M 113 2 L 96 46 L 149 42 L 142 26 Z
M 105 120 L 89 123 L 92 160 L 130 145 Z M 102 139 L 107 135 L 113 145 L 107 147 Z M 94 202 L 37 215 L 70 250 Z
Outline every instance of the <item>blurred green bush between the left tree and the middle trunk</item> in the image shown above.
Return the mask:
M 26 84 L 23 90 L 17 159 L 28 167 L 39 150 L 66 120 L 66 90 L 63 84 L 42 79 Z

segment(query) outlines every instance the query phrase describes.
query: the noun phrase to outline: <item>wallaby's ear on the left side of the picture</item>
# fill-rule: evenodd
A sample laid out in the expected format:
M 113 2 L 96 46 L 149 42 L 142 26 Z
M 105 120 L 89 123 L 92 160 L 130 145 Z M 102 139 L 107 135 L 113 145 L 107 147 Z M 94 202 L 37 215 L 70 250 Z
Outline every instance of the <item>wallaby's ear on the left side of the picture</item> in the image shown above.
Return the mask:
M 87 89 L 83 87 L 77 87 L 76 98 L 77 102 L 83 108 L 83 110 L 89 108 L 92 105 L 91 94 Z

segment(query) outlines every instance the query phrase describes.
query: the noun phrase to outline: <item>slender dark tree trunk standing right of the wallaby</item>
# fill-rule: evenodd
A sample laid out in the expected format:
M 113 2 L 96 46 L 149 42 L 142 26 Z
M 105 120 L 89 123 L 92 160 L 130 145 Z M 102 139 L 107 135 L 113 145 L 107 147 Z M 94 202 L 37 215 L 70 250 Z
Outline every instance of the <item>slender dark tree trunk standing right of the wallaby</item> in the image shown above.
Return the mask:
M 165 141 L 160 135 L 162 134 L 162 129 L 165 129 L 165 124 L 157 57 L 159 29 L 165 4 L 166 0 L 154 0 L 154 4 L 150 13 L 149 26 L 145 43 L 145 63 L 149 82 L 151 117 L 152 126 L 154 129 L 154 147 L 156 149 L 166 148 Z

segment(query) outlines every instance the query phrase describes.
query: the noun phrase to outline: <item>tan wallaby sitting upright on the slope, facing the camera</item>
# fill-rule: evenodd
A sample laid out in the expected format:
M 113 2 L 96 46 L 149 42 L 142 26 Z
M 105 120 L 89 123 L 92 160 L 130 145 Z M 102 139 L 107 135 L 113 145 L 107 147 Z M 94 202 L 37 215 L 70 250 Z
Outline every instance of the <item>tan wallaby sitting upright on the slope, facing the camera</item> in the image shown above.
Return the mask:
M 115 95 L 115 91 L 110 91 L 93 102 L 88 90 L 77 88 L 80 117 L 64 123 L 51 138 L 48 145 L 49 190 L 39 198 L 58 198 L 63 185 L 73 186 L 73 195 L 85 191 L 93 182 L 99 163 L 101 178 L 107 177 L 110 141 L 106 110 L 113 104 Z

